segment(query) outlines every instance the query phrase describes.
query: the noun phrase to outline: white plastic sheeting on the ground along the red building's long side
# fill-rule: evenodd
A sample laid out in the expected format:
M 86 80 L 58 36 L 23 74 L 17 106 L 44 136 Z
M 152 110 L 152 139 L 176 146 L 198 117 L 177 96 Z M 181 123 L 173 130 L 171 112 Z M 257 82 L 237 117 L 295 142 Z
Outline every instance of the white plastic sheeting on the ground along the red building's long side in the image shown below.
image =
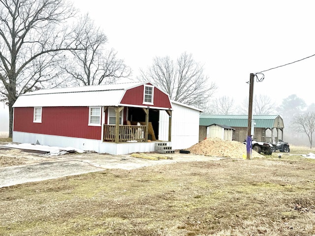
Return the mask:
M 79 152 L 83 153 L 85 152 L 84 150 L 78 149 L 78 148 L 72 148 L 72 147 L 66 147 L 66 148 L 61 148 L 61 147 L 50 147 L 50 146 L 45 146 L 45 145 L 33 145 L 33 144 L 7 144 L 7 145 L 1 145 L 0 148 L 9 148 L 9 149 L 21 149 L 25 151 L 30 151 L 32 150 L 34 152 L 45 152 L 46 155 L 51 155 L 51 156 L 58 156 L 58 155 L 63 155 L 68 152 Z

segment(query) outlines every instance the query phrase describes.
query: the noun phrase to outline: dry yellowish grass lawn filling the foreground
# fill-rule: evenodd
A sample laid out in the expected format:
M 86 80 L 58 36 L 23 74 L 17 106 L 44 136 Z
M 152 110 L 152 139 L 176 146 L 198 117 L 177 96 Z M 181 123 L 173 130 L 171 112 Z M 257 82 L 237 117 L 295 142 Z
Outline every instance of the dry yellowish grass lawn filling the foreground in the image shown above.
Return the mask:
M 0 235 L 314 235 L 314 169 L 315 160 L 272 155 L 4 187 Z

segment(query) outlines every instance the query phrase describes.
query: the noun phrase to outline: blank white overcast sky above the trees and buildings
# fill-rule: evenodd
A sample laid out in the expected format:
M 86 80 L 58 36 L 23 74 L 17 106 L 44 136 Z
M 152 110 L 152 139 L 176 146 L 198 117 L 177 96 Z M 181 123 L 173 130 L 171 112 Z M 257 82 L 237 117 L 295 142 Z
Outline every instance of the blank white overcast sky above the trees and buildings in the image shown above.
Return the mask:
M 109 39 L 133 76 L 156 56 L 191 53 L 236 101 L 248 97 L 250 73 L 315 54 L 313 0 L 74 0 Z M 254 94 L 280 104 L 297 94 L 313 102 L 315 57 L 265 72 Z

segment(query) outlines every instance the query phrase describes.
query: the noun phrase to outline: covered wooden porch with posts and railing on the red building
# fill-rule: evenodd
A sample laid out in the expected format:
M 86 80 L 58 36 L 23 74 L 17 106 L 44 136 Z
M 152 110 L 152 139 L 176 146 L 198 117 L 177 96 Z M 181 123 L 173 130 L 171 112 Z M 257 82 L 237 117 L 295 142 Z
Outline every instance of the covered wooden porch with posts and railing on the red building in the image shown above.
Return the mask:
M 125 109 L 125 106 L 113 107 L 115 110 L 115 124 L 105 124 L 102 127 L 102 141 L 112 143 L 137 143 L 137 142 L 150 142 L 154 131 L 151 122 L 149 122 L 150 107 L 137 108 L 142 110 L 145 115 L 145 121 L 137 122 L 128 120 L 128 115 L 121 117 L 121 112 Z M 104 114 L 108 111 L 108 107 L 104 107 Z M 128 110 L 127 110 L 128 111 Z M 172 110 L 162 110 L 169 116 L 168 122 L 168 141 L 171 142 L 171 127 L 172 127 Z M 123 122 L 120 120 L 123 119 Z M 122 124 L 124 123 L 124 124 Z M 152 135 L 153 133 L 153 135 Z M 150 137 L 150 139 L 149 139 Z M 149 141 L 150 140 L 150 141 Z

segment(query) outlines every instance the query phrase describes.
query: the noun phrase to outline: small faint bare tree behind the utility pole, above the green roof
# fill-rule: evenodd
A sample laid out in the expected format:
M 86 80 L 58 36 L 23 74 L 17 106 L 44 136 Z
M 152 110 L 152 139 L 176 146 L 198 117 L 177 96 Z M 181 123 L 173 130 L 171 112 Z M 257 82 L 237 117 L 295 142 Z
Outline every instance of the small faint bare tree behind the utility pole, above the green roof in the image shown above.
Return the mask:
M 270 115 L 275 112 L 275 102 L 267 95 L 255 95 L 252 101 L 252 114 L 253 115 Z M 248 98 L 244 99 L 240 106 L 241 114 L 248 114 Z

